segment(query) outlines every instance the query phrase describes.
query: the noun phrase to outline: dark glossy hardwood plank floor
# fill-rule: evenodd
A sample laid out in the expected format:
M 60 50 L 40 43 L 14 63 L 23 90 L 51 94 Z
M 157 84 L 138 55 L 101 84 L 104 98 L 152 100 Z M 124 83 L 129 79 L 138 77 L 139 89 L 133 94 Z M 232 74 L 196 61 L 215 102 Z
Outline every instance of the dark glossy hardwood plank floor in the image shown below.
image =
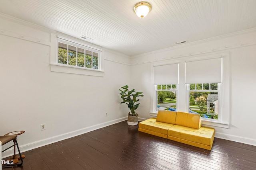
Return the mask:
M 256 147 L 214 139 L 212 150 L 138 132 L 126 121 L 23 152 L 3 170 L 256 170 Z

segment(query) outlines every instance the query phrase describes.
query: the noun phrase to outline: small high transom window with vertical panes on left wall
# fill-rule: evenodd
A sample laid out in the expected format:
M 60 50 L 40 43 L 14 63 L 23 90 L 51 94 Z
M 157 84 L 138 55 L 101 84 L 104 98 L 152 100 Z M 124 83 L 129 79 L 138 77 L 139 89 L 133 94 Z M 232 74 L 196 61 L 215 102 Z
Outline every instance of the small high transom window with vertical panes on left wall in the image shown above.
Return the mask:
M 58 64 L 100 70 L 101 51 L 58 38 Z

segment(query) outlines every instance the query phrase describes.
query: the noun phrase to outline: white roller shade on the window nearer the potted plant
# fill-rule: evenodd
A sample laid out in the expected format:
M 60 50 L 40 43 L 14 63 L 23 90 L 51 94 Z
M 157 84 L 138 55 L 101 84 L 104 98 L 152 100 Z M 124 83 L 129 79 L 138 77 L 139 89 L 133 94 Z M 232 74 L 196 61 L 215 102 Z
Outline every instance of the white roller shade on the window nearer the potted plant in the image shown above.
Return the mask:
M 154 85 L 178 84 L 179 64 L 154 66 Z

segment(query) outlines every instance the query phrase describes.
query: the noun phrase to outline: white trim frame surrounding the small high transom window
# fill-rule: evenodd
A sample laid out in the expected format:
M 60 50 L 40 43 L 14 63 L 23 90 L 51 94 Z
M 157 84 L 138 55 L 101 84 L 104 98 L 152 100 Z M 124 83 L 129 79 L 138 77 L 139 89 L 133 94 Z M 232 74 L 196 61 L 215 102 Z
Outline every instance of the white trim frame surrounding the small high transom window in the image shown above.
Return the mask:
M 71 66 L 68 64 L 60 64 L 58 63 L 58 38 L 63 39 L 63 41 L 68 41 L 69 45 L 74 45 L 76 47 L 88 47 L 88 49 L 95 49 L 97 51 L 101 51 L 99 54 L 99 69 L 85 68 L 79 66 Z M 89 76 L 104 76 L 104 50 L 99 49 L 97 47 L 92 47 L 87 45 L 86 43 L 81 43 L 80 40 L 77 40 L 78 43 L 74 43 L 76 40 L 70 38 L 70 40 L 60 37 L 56 34 L 51 33 L 51 51 L 50 51 L 50 67 L 52 72 L 62 72 L 62 73 L 70 73 L 70 74 L 82 74 Z M 60 41 L 61 42 L 61 41 Z

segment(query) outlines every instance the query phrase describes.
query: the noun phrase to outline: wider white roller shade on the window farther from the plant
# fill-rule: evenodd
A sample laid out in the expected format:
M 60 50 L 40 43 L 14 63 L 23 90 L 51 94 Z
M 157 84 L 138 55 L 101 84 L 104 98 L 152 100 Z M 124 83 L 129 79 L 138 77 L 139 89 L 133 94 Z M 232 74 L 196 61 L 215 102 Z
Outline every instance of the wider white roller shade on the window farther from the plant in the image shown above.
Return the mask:
M 222 58 L 186 61 L 187 84 L 221 83 Z

